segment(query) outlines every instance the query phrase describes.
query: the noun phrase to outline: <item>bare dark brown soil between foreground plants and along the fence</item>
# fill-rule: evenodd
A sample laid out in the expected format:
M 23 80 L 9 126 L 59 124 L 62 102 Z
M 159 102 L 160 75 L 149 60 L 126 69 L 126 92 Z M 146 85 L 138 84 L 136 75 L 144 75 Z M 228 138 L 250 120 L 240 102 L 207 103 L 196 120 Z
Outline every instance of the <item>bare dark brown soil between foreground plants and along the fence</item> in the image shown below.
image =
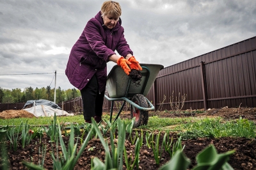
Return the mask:
M 196 113 L 199 112 L 199 113 Z M 170 112 L 150 112 L 149 116 L 160 116 L 160 117 L 185 117 L 185 116 L 221 116 L 227 120 L 234 120 L 237 118 L 242 118 L 256 121 L 256 108 L 223 108 L 223 109 L 211 109 L 207 112 L 202 111 L 186 111 L 186 113 L 180 114 L 170 114 Z M 120 114 L 121 118 L 130 118 L 130 113 L 122 113 Z M 157 133 L 157 132 L 156 132 Z M 127 135 L 128 137 L 128 135 Z M 177 140 L 176 134 L 170 134 L 170 137 L 173 137 L 173 142 Z M 63 137 L 65 143 L 68 143 L 68 137 Z M 163 139 L 163 134 L 161 135 L 161 139 Z M 52 157 L 50 155 L 50 151 L 54 151 L 56 153 L 56 147 L 52 147 L 52 143 L 49 143 L 50 139 L 47 136 L 42 137 L 42 141 L 40 143 L 40 139 L 36 138 L 31 141 L 31 143 L 25 148 L 19 147 L 17 151 L 10 150 L 8 148 L 8 159 L 10 162 L 10 169 L 26 169 L 25 166 L 22 165 L 22 160 L 26 160 L 28 162 L 34 162 L 38 164 L 38 160 L 42 160 L 42 155 L 38 154 L 38 148 L 42 148 L 42 144 L 47 145 L 47 153 L 45 156 L 45 169 L 52 169 Z M 144 143 L 145 144 L 145 143 Z M 163 151 L 162 160 L 160 165 L 157 166 L 154 160 L 154 154 L 152 149 L 147 148 L 147 146 L 143 146 L 140 149 L 140 169 L 159 169 L 160 166 L 165 164 L 170 160 L 170 156 L 168 153 Z M 236 150 L 234 154 L 230 156 L 228 163 L 234 169 L 256 169 L 256 140 L 254 139 L 246 139 L 241 137 L 223 137 L 220 139 L 214 138 L 199 138 L 199 139 L 189 139 L 186 141 L 182 141 L 182 145 L 186 145 L 184 148 L 184 154 L 191 160 L 191 164 L 189 169 L 196 166 L 196 155 L 204 150 L 206 146 L 209 144 L 213 144 L 218 151 L 218 153 L 225 153 L 230 150 Z M 9 146 L 9 144 L 8 144 Z M 79 144 L 78 148 L 81 146 Z M 95 148 L 93 148 L 95 147 Z M 127 153 L 131 153 L 132 160 L 134 159 L 134 145 L 131 144 L 131 141 L 127 139 L 125 141 L 125 148 Z M 90 150 L 93 148 L 93 150 Z M 58 152 L 61 151 L 61 148 L 58 148 Z M 129 154 L 128 154 L 129 155 Z M 79 158 L 75 169 L 90 169 L 91 167 L 91 159 L 93 157 L 98 157 L 100 160 L 104 161 L 105 153 L 102 144 L 99 139 L 92 139 L 89 141 L 87 148 L 84 150 L 83 155 Z M 1 167 L 0 167 L 1 169 Z M 124 166 L 124 169 L 125 166 Z

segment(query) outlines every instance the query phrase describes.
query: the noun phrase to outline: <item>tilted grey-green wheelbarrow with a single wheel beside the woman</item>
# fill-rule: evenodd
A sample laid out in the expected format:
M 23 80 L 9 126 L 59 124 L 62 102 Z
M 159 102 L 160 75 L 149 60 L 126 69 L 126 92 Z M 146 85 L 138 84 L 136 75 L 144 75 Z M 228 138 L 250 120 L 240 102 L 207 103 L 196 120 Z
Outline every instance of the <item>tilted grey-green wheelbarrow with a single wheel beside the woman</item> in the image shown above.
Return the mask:
M 154 105 L 145 97 L 148 95 L 150 88 L 156 80 L 157 74 L 163 65 L 140 64 L 141 82 L 140 86 L 134 84 L 131 78 L 118 65 L 113 66 L 107 77 L 108 95 L 105 95 L 111 101 L 110 122 L 113 116 L 114 101 L 124 101 L 116 115 L 115 121 L 118 119 L 126 102 L 131 105 L 131 119 L 135 117 L 133 127 L 147 125 L 148 111 L 155 109 Z

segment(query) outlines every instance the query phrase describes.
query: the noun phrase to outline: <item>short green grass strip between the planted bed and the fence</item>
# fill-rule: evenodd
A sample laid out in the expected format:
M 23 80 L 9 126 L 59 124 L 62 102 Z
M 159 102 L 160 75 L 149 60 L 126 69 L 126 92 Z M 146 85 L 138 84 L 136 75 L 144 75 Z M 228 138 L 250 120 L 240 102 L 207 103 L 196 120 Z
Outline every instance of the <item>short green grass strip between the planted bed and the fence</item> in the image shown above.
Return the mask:
M 109 120 L 109 114 L 104 114 L 103 118 Z M 113 116 L 113 120 L 115 116 Z M 83 115 L 80 116 L 58 116 L 60 123 L 84 123 Z M 131 119 L 122 119 L 126 124 L 131 122 Z M 47 118 L 15 118 L 9 120 L 1 120 L 1 125 L 19 126 L 21 122 L 28 121 L 28 125 L 33 126 L 50 125 L 51 117 Z M 33 129 L 33 128 L 32 128 Z M 150 131 L 169 131 L 175 132 L 182 136 L 182 139 L 191 139 L 197 137 L 246 137 L 253 138 L 256 135 L 256 125 L 253 121 L 240 118 L 239 120 L 225 121 L 222 118 L 159 118 L 150 116 L 148 124 L 142 125 L 137 130 Z

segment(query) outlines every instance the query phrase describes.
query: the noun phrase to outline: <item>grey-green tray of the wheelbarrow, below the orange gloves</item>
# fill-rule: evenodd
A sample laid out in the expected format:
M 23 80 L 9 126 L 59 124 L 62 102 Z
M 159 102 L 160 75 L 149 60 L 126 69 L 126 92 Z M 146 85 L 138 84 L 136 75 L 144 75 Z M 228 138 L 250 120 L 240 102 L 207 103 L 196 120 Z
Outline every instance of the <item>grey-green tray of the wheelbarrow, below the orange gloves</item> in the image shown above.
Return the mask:
M 157 74 L 164 66 L 143 63 L 140 63 L 140 66 L 143 68 L 141 71 L 142 78 L 140 86 L 136 86 L 136 84 L 132 82 L 129 84 L 129 76 L 124 72 L 124 70 L 122 70 L 118 65 L 113 66 L 107 77 L 109 98 L 131 98 L 136 94 L 144 96 L 148 95 L 150 88 L 156 80 Z

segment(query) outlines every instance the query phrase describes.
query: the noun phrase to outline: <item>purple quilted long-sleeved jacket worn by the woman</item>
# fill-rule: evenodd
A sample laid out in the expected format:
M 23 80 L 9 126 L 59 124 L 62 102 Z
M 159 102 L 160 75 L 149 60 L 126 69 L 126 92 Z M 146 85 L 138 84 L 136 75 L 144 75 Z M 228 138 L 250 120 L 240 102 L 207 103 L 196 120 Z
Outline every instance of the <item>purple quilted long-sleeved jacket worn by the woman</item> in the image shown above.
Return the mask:
M 121 56 L 132 54 L 121 24 L 119 19 L 113 29 L 108 29 L 104 26 L 100 12 L 87 22 L 83 33 L 71 49 L 65 71 L 68 80 L 77 89 L 83 89 L 96 74 L 99 90 L 104 91 L 109 56 L 116 54 L 115 50 Z

